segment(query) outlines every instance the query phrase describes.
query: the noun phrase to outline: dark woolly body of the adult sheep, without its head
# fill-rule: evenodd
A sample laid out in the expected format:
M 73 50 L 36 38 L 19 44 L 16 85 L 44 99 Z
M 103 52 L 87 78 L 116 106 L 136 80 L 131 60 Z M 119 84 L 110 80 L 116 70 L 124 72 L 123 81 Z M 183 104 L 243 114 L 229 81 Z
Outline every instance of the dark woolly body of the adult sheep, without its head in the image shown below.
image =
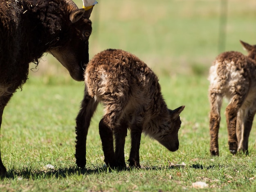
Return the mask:
M 69 40 L 66 9 L 63 0 L 0 1 L 0 86 L 12 84 L 14 92 L 27 80 L 30 62 Z

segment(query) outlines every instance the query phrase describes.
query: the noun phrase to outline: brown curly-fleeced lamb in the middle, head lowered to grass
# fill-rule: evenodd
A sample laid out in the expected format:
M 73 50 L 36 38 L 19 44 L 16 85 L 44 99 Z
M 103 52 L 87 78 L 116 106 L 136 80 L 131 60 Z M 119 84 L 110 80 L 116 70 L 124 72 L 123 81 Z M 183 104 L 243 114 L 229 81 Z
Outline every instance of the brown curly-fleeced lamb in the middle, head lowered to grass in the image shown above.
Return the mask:
M 99 102 L 105 115 L 99 123 L 105 163 L 126 167 L 124 143 L 131 132 L 130 167 L 140 167 L 141 133 L 155 138 L 170 151 L 179 148 L 181 106 L 168 109 L 155 73 L 136 56 L 107 49 L 94 56 L 85 69 L 85 94 L 76 118 L 76 164 L 85 167 L 86 136 Z M 115 152 L 113 147 L 115 137 Z

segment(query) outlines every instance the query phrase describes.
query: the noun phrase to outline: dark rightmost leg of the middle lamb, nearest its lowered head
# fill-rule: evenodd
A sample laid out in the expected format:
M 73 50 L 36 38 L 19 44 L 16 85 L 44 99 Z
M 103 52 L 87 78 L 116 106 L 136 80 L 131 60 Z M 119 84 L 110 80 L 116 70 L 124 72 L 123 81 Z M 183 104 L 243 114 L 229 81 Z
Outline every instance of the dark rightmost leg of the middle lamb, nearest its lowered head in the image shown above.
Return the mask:
M 130 158 L 129 158 L 129 166 L 130 167 L 138 167 L 140 168 L 139 164 L 139 146 L 140 146 L 140 139 L 142 128 L 140 126 L 132 126 L 130 127 L 131 132 L 131 150 L 130 150 Z

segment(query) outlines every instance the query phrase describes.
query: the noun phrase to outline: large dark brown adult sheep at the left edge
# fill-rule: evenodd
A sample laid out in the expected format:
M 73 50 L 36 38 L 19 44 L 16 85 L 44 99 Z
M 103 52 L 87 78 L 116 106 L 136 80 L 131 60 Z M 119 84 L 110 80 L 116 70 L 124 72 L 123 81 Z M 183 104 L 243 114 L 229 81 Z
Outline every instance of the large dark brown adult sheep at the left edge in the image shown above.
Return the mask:
M 27 80 L 29 63 L 38 63 L 44 52 L 83 80 L 91 11 L 71 0 L 0 0 L 0 125 L 4 107 Z M 0 158 L 0 176 L 6 173 Z

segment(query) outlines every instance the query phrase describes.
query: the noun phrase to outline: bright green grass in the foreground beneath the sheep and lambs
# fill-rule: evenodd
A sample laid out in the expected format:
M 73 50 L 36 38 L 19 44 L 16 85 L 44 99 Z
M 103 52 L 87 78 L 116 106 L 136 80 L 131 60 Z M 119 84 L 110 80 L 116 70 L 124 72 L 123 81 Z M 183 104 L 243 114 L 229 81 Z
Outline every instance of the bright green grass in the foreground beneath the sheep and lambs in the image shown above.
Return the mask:
M 254 131 L 249 139 L 249 156 L 229 154 L 222 110 L 220 156 L 211 157 L 207 78 L 186 75 L 159 78 L 168 106 L 173 109 L 186 105 L 181 114 L 180 149 L 169 152 L 157 141 L 143 135 L 140 149 L 143 168 L 124 171 L 104 167 L 98 131 L 101 107 L 88 132 L 86 170 L 75 165 L 74 119 L 83 96 L 83 83 L 72 81 L 65 86 L 45 85 L 38 78 L 30 78 L 22 92 L 13 96 L 4 112 L 1 152 L 8 176 L 2 179 L 0 190 L 197 191 L 192 188 L 192 183 L 204 181 L 209 184 L 206 190 L 254 191 Z M 129 149 L 128 134 L 126 160 Z M 186 166 L 174 168 L 170 167 L 170 162 L 184 162 Z M 47 164 L 54 165 L 55 169 L 45 172 L 43 166 Z

